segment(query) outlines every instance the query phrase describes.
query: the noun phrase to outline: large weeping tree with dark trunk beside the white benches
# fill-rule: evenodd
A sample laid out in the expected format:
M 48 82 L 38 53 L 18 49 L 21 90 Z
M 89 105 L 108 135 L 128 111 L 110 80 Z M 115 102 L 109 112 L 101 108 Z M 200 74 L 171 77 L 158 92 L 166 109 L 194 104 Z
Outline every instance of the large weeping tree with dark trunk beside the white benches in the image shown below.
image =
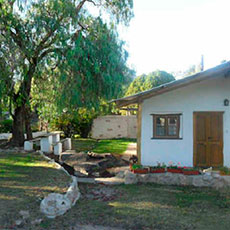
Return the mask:
M 8 99 L 14 121 L 14 145 L 23 144 L 24 127 L 27 137 L 31 138 L 31 88 L 32 85 L 36 87 L 42 79 L 50 84 L 49 73 L 62 80 L 57 88 L 68 92 L 62 94 L 63 101 L 68 99 L 79 104 L 90 101 L 90 96 L 108 94 L 104 87 L 109 84 L 105 82 L 113 84 L 123 81 L 122 73 L 128 70 L 124 66 L 119 69 L 121 65 L 114 67 L 113 63 L 108 68 L 100 59 L 104 47 L 100 47 L 99 42 L 98 50 L 94 53 L 91 43 L 93 41 L 97 45 L 101 29 L 105 31 L 105 39 L 113 39 L 110 29 L 116 23 L 128 23 L 132 17 L 132 4 L 132 0 L 38 0 L 28 1 L 26 5 L 16 5 L 15 0 L 0 1 L 0 66 L 3 66 L 0 96 Z M 100 17 L 93 17 L 87 10 L 90 7 L 102 10 L 107 15 L 100 13 Z M 113 23 L 103 23 L 101 15 L 106 19 L 110 15 Z M 105 52 L 105 55 L 108 53 Z M 124 56 L 122 61 L 125 60 Z M 97 61 L 95 57 L 98 57 Z M 106 58 L 110 59 L 109 56 Z M 114 71 L 119 72 L 117 81 L 113 81 Z M 63 89 L 64 85 L 75 85 L 77 88 L 73 92 L 71 88 Z

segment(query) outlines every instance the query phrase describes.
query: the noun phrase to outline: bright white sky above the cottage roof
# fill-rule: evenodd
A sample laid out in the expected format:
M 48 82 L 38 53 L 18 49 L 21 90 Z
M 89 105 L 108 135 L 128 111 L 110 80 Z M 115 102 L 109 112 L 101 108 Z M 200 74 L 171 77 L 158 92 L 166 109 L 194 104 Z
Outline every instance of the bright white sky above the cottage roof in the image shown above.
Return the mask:
M 230 60 L 230 0 L 134 0 L 134 18 L 119 29 L 136 74 L 204 69 Z

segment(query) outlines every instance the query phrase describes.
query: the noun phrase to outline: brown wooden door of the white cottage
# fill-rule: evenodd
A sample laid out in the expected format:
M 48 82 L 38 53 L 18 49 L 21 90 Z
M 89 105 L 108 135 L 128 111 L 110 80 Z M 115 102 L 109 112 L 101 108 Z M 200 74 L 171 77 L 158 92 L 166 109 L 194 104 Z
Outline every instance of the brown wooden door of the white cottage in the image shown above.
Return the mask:
M 223 112 L 195 112 L 193 122 L 194 166 L 223 166 Z

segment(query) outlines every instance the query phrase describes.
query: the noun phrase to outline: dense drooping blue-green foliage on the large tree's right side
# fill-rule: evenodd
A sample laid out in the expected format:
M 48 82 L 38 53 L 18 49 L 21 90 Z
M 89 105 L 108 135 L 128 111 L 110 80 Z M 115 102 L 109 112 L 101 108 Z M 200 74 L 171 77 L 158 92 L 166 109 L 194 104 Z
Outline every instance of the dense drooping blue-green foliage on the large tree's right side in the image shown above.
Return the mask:
M 127 53 L 115 31 L 100 18 L 88 18 L 87 24 L 89 29 L 79 34 L 59 66 L 61 108 L 98 109 L 101 100 L 121 96 L 131 82 L 133 72 L 126 66 Z

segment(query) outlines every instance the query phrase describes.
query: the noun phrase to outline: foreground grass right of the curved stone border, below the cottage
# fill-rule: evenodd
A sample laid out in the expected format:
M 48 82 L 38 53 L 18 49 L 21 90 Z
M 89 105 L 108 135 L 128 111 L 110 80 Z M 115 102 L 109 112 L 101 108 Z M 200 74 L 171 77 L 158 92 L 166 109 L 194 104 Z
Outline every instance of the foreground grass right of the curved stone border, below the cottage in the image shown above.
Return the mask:
M 80 185 L 81 199 L 57 220 L 46 226 L 60 228 L 74 223 L 134 230 L 228 230 L 229 192 L 156 184 L 113 186 L 117 197 L 103 202 L 88 199 L 92 189 L 103 185 Z

